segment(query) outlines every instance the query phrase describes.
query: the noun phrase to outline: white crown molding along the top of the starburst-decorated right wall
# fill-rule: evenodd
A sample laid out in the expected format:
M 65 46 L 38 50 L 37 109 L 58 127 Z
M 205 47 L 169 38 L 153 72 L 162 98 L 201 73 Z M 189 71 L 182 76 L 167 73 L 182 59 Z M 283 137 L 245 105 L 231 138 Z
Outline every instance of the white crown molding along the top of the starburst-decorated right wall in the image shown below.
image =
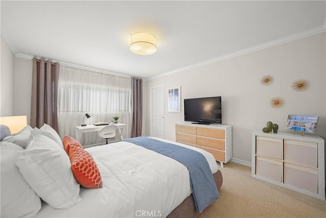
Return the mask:
M 326 21 L 326 19 L 325 19 L 325 21 Z M 306 38 L 306 37 L 309 37 L 309 36 L 317 35 L 319 33 L 323 33 L 323 32 L 326 31 L 325 21 L 324 21 L 322 26 L 319 26 L 319 27 L 316 27 L 316 28 L 313 28 L 313 29 L 310 29 L 310 30 L 307 30 L 307 31 L 292 34 L 292 35 L 289 35 L 289 36 L 286 36 L 286 37 L 283 37 L 283 38 L 279 38 L 279 39 L 276 39 L 276 40 L 273 40 L 273 41 L 269 41 L 269 42 L 266 42 L 266 43 L 262 43 L 262 44 L 259 44 L 259 45 L 248 47 L 247 49 L 239 50 L 239 51 L 227 54 L 227 55 L 223 55 L 223 56 L 220 56 L 220 57 L 216 57 L 216 58 L 213 58 L 213 59 L 202 61 L 202 62 L 199 62 L 199 63 L 196 63 L 196 64 L 188 65 L 186 67 L 182 67 L 182 68 L 179 68 L 179 69 L 176 69 L 176 70 L 172 70 L 172 71 L 166 72 L 164 74 L 149 77 L 146 80 L 149 81 L 149 80 L 157 79 L 157 78 L 160 78 L 160 77 L 169 76 L 169 75 L 176 74 L 176 73 L 184 71 L 184 70 L 194 69 L 194 68 L 197 68 L 197 67 L 201 67 L 201 66 L 205 66 L 205 65 L 208 65 L 208 64 L 216 63 L 216 62 L 223 61 L 223 60 L 226 60 L 226 59 L 230 59 L 230 58 L 245 55 L 245 54 L 248 54 L 248 53 L 256 52 L 256 51 L 259 51 L 259 50 L 267 49 L 268 47 L 273 47 L 273 46 L 276 46 L 276 45 L 280 45 L 280 44 L 295 41 L 295 40 L 298 40 L 298 39 Z

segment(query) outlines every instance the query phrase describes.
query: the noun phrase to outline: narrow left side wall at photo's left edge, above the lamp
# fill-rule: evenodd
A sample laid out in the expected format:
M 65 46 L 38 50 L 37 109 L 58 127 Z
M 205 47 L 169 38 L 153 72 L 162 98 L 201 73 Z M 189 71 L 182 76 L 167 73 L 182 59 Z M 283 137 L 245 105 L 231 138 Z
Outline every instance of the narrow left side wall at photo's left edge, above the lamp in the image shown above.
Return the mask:
M 14 57 L 1 35 L 0 116 L 14 115 Z

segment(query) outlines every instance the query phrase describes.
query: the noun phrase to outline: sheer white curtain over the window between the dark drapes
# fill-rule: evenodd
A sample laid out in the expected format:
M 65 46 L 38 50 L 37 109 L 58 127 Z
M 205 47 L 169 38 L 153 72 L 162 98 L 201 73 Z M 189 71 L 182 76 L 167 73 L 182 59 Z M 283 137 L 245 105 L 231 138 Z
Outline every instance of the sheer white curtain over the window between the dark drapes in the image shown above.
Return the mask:
M 119 123 L 126 124 L 123 138 L 130 137 L 131 78 L 102 74 L 85 69 L 60 65 L 58 85 L 58 123 L 61 137 L 70 135 L 75 138 L 75 126 L 105 121 L 111 122 L 119 116 Z M 98 143 L 95 133 L 86 133 L 84 144 Z

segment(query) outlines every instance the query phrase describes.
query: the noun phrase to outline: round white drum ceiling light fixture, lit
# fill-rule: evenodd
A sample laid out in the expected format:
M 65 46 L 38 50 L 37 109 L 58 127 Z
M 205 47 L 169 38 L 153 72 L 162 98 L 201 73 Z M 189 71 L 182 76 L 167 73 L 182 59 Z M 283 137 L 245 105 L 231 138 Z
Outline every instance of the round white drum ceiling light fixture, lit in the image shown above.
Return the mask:
M 152 55 L 157 51 L 156 38 L 149 33 L 131 35 L 129 49 L 136 55 Z

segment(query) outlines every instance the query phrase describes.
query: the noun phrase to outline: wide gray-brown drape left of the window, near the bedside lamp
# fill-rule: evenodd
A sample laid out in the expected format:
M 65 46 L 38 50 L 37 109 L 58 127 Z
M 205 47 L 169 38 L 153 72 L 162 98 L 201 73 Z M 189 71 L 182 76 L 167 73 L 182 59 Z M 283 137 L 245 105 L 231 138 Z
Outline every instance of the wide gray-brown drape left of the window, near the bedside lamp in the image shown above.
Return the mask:
M 58 98 L 59 63 L 33 58 L 31 127 L 40 128 L 44 124 L 57 132 L 57 98 Z

